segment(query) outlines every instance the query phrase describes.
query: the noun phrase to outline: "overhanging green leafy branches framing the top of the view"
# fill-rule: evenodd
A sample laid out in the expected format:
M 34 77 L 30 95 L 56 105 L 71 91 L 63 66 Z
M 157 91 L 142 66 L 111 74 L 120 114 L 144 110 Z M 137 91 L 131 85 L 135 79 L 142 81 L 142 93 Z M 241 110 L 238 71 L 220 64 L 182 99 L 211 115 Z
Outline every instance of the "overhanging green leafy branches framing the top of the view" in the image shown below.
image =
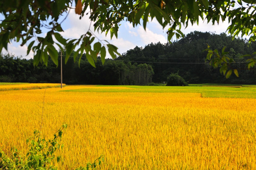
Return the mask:
M 76 48 L 74 59 L 78 54 L 85 53 L 94 67 L 99 54 L 104 63 L 106 50 L 112 58 L 119 55 L 116 46 L 98 39 L 91 28 L 79 39 L 65 39 L 60 35 L 63 31 L 61 23 L 66 18 L 61 16 L 68 15 L 74 2 L 77 17 L 89 15 L 94 30 L 106 34 L 110 32 L 111 38 L 118 37 L 121 21 L 146 28 L 147 22 L 156 18 L 162 28 L 168 27 L 169 41 L 173 35 L 177 38 L 184 36 L 180 31 L 181 25 L 187 27 L 189 22 L 198 25 L 200 19 L 213 24 L 228 20 L 229 34 L 247 35 L 249 42 L 256 40 L 255 0 L 3 0 L 0 2 L 0 13 L 4 16 L 0 23 L 0 52 L 2 48 L 8 50 L 8 44 L 12 41 L 21 45 L 29 43 L 27 53 L 31 50 L 34 52 L 35 65 L 39 62 L 47 65 L 48 55 L 58 65 L 58 51 L 54 47 L 58 45 L 61 51 L 63 47 L 66 49 L 66 62 Z M 49 30 L 45 36 L 41 34 L 43 28 Z M 233 62 L 225 55 L 224 50 L 219 53 L 208 48 L 207 59 L 213 60 L 215 67 L 224 66 L 223 74 L 228 69 L 232 71 L 229 63 Z M 255 63 L 251 56 L 248 68 Z

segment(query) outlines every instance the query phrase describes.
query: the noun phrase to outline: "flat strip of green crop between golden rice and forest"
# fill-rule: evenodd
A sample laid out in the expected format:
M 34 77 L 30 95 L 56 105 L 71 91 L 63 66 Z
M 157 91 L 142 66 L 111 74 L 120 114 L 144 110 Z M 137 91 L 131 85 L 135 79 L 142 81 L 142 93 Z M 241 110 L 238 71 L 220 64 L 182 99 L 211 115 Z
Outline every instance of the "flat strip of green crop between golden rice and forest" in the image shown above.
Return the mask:
M 256 87 L 237 85 L 207 85 L 207 86 L 138 86 L 138 85 L 96 85 L 99 88 L 84 88 L 66 90 L 64 92 L 100 92 L 100 93 L 201 93 L 202 97 L 217 98 L 256 98 Z M 104 88 L 114 87 L 114 88 Z M 118 89 L 120 87 L 120 89 Z M 126 88 L 124 88 L 126 87 Z

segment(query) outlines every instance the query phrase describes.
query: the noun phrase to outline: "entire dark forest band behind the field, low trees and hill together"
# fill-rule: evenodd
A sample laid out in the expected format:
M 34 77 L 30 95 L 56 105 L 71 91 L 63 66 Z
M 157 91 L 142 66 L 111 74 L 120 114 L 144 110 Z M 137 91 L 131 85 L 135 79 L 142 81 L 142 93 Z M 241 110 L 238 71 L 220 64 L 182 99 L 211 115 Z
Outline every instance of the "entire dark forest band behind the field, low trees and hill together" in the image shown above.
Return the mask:
M 213 68 L 205 62 L 207 52 L 204 50 L 207 44 L 219 51 L 226 46 L 226 51 L 229 51 L 230 57 L 236 61 L 232 67 L 239 70 L 239 77 L 232 75 L 226 79 L 218 68 Z M 252 54 L 254 51 L 255 42 L 248 44 L 243 39 L 232 40 L 231 36 L 224 33 L 195 31 L 172 43 L 158 42 L 145 47 L 135 47 L 116 59 L 106 59 L 104 65 L 99 58 L 96 68 L 89 64 L 85 54 L 80 66 L 78 61 L 74 62 L 70 57 L 67 64 L 63 65 L 63 83 L 148 85 L 152 82 L 166 82 L 167 76 L 179 72 L 179 75 L 190 84 L 256 84 L 256 70 L 248 70 L 246 58 L 241 58 L 242 55 Z M 1 54 L 0 82 L 58 83 L 60 65 L 56 68 L 49 59 L 47 67 L 42 64 L 35 67 L 33 59 Z

